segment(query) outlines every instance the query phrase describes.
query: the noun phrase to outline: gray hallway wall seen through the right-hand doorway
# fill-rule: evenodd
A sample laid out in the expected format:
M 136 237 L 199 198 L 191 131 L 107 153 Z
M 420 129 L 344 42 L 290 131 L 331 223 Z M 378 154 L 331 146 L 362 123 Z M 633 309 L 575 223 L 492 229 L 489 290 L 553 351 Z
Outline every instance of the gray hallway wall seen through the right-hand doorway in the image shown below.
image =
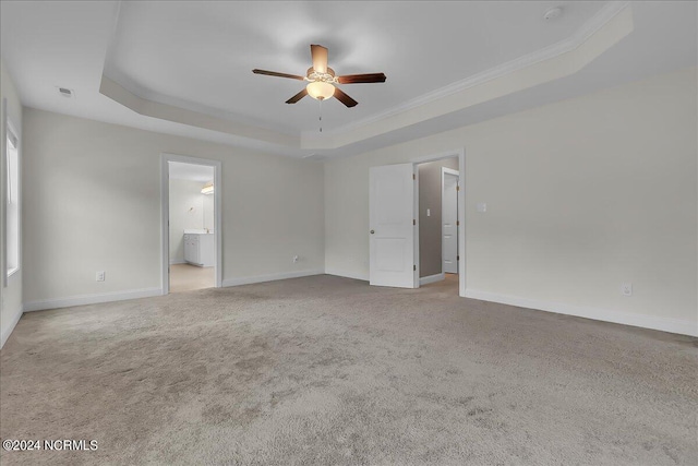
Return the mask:
M 419 276 L 442 271 L 441 258 L 441 168 L 458 169 L 458 158 L 421 164 L 419 168 Z M 426 210 L 431 216 L 426 216 Z

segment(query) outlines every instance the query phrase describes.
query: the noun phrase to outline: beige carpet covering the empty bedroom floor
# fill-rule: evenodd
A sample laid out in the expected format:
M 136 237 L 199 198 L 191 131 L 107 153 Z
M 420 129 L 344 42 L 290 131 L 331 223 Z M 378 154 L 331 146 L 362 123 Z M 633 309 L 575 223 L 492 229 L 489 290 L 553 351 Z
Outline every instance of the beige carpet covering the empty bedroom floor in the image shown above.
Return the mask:
M 25 314 L 16 464 L 696 465 L 697 339 L 317 276 Z

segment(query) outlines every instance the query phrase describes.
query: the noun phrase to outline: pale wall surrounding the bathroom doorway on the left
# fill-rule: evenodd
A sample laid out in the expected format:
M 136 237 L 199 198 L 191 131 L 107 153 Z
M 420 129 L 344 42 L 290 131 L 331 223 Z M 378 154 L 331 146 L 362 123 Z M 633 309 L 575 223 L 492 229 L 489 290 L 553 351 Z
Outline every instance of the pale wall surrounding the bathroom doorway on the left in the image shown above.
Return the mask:
M 24 136 L 26 309 L 158 292 L 161 153 L 222 162 L 224 285 L 324 268 L 321 164 L 31 108 Z

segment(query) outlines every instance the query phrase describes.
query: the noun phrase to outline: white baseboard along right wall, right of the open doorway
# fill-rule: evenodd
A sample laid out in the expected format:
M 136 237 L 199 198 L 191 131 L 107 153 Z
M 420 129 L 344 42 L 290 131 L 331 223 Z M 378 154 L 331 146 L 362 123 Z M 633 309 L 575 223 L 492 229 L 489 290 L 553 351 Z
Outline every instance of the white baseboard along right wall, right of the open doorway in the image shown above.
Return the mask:
M 592 319 L 594 321 L 613 322 L 616 324 L 639 326 L 642 328 L 659 330 L 662 332 L 677 333 L 681 335 L 698 336 L 698 323 L 672 318 L 658 318 L 652 315 L 636 314 L 633 312 L 612 311 L 607 309 L 571 306 L 562 302 L 539 301 L 517 296 L 498 295 L 476 289 L 466 289 L 466 298 L 482 301 L 500 302 L 502 304 L 517 306 L 519 308 L 534 309 L 557 314 L 576 315 L 578 318 Z

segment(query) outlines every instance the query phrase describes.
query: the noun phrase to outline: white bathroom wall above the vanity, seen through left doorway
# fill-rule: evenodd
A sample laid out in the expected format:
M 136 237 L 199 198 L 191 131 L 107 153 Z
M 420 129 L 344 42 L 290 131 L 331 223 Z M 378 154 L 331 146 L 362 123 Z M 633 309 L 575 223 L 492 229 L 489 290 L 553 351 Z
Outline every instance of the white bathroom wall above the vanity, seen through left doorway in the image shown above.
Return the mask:
M 202 194 L 203 186 L 200 181 L 170 179 L 170 264 L 184 262 L 185 229 L 214 230 L 214 196 Z

